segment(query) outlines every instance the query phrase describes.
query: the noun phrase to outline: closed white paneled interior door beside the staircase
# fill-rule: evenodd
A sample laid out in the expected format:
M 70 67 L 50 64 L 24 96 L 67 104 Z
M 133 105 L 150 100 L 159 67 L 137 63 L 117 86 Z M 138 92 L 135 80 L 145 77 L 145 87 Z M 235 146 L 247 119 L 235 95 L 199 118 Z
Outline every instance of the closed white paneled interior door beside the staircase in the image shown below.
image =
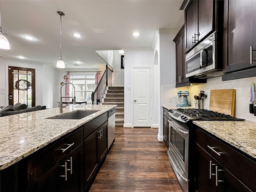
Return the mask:
M 133 68 L 133 126 L 151 127 L 151 68 Z

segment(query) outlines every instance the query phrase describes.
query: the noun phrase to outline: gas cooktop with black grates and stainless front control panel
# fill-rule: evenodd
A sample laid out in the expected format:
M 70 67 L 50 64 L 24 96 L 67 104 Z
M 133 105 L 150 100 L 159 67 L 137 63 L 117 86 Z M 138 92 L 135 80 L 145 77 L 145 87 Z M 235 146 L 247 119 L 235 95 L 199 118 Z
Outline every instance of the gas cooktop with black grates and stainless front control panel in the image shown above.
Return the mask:
M 191 120 L 201 121 L 243 121 L 244 119 L 232 117 L 223 113 L 218 113 L 206 109 L 171 109 L 168 111 L 171 118 L 180 122 L 188 122 Z

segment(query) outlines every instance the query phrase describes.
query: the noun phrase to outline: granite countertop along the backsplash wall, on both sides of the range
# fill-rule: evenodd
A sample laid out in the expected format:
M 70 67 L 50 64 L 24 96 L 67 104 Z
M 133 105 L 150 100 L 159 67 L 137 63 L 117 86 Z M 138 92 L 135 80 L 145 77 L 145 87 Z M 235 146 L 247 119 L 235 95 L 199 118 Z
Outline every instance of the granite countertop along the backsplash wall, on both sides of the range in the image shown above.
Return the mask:
M 163 105 L 170 110 L 176 106 Z M 192 121 L 203 130 L 256 158 L 256 122 L 252 121 Z

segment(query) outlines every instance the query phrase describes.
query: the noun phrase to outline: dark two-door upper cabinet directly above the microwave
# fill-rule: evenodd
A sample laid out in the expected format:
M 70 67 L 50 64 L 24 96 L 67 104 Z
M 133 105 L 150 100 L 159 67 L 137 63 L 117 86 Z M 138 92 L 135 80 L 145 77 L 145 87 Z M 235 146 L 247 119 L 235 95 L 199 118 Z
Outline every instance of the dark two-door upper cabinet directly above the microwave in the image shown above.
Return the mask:
M 185 10 L 185 52 L 194 48 L 210 33 L 218 31 L 218 26 L 222 26 L 222 7 L 222 1 L 218 0 L 183 2 L 180 9 Z

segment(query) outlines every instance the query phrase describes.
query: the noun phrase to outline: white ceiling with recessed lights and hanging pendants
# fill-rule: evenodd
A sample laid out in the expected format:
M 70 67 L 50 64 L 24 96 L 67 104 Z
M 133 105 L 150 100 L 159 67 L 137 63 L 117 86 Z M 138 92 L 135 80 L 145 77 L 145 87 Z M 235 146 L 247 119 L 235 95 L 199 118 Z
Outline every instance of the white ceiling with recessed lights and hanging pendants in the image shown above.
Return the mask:
M 178 31 L 184 24 L 184 11 L 179 10 L 182 2 L 0 0 L 1 27 L 10 43 L 10 50 L 1 49 L 0 56 L 55 67 L 60 57 L 57 11 L 62 11 L 62 58 L 66 68 L 104 68 L 106 62 L 95 50 L 151 48 L 157 29 Z M 140 36 L 134 37 L 133 32 Z M 74 33 L 81 38 L 74 37 Z

